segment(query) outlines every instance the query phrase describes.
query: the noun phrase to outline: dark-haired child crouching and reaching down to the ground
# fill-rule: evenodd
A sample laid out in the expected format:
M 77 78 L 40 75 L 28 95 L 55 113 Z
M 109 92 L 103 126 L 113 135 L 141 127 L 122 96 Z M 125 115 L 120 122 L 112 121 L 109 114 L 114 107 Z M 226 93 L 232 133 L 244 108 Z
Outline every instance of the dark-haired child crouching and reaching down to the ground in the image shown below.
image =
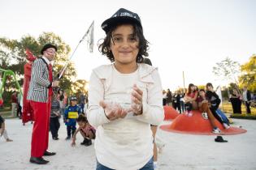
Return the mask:
M 76 121 L 79 125 L 79 128 L 73 135 L 72 147 L 76 145 L 76 134 L 78 132 L 80 132 L 80 134 L 84 137 L 84 142 L 81 142 L 80 144 L 85 145 L 86 147 L 90 146 L 92 144 L 92 139 L 95 138 L 96 130 L 93 128 L 92 125 L 89 125 L 87 118 L 83 114 L 80 114 Z

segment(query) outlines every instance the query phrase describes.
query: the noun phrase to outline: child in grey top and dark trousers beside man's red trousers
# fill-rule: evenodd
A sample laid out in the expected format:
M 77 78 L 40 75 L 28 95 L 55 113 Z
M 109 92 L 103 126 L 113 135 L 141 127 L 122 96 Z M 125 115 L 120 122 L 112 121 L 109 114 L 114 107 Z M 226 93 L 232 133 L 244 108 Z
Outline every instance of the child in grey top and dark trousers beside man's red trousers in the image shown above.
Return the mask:
M 51 101 L 51 110 L 50 110 L 50 132 L 54 140 L 59 140 L 58 131 L 59 131 L 59 117 L 60 117 L 60 104 L 57 98 L 57 95 L 54 95 L 53 100 Z

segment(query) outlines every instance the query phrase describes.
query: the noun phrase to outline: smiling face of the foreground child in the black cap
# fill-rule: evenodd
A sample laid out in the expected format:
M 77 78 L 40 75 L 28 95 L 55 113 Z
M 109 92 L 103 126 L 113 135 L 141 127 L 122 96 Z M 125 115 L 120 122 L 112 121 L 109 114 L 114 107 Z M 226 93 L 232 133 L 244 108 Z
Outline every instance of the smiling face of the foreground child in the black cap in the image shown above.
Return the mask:
M 120 25 L 112 32 L 111 51 L 117 65 L 136 64 L 139 39 L 133 36 L 130 24 Z

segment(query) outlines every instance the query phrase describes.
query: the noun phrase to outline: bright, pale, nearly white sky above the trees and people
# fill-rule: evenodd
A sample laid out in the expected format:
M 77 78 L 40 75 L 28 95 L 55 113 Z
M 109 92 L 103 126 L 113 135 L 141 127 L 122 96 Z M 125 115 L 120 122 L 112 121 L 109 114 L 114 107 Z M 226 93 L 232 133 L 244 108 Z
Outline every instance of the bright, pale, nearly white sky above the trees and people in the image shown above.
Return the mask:
M 254 0 L 1 0 L 0 36 L 20 40 L 54 32 L 73 52 L 94 20 L 93 53 L 83 41 L 72 57 L 77 79 L 89 80 L 93 68 L 110 63 L 98 52 L 101 24 L 121 7 L 141 17 L 164 89 L 183 87 L 183 72 L 185 87 L 226 85 L 212 73 L 216 62 L 230 57 L 244 64 L 256 53 Z

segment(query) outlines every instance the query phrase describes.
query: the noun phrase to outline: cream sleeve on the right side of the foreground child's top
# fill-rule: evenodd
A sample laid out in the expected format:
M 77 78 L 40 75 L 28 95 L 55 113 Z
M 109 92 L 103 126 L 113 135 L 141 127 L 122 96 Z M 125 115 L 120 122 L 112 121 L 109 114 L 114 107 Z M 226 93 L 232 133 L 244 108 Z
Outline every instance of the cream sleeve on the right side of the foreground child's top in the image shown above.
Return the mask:
M 154 83 L 147 89 L 147 101 L 142 101 L 142 114 L 137 116 L 138 121 L 159 125 L 163 121 L 163 89 L 157 70 L 151 74 Z

